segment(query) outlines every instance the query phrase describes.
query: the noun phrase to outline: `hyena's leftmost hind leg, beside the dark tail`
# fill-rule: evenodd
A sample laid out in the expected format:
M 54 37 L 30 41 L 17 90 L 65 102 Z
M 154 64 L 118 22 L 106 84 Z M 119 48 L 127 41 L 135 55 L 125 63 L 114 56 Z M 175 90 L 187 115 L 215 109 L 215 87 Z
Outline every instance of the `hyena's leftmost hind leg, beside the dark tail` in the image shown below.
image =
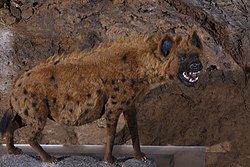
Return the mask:
M 10 122 L 6 131 L 6 145 L 9 154 L 21 154 L 22 150 L 14 146 L 14 132 L 18 128 L 25 126 L 22 122 L 22 118 L 17 114 Z

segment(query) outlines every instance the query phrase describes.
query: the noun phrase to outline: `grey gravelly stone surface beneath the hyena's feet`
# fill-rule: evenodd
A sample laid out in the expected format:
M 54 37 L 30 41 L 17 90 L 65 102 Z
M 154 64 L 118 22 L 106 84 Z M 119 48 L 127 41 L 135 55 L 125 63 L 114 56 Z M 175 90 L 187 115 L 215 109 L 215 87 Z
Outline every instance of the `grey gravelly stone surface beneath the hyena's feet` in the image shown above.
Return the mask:
M 153 160 L 138 161 L 134 159 L 119 158 L 116 163 L 108 164 L 96 157 L 67 156 L 57 163 L 44 163 L 37 157 L 29 155 L 3 155 L 0 157 L 0 166 L 8 167 L 156 167 Z

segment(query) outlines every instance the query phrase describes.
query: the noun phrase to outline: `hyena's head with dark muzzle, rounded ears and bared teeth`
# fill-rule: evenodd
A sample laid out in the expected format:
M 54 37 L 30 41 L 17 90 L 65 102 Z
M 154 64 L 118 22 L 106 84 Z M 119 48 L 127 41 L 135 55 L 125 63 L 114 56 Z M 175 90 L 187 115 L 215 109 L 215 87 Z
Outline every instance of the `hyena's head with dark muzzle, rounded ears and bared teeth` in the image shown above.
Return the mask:
M 196 32 L 181 37 L 165 36 L 159 44 L 160 61 L 169 78 L 177 76 L 186 86 L 194 86 L 202 70 L 202 43 Z

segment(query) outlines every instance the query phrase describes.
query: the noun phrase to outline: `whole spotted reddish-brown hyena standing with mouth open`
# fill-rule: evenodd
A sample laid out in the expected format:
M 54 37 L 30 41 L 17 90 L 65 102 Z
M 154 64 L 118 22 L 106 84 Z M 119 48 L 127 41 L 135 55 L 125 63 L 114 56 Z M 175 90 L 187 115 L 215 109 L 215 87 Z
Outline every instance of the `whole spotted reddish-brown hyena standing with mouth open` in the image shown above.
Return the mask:
M 175 77 L 184 85 L 193 86 L 202 69 L 201 54 L 201 40 L 194 32 L 185 37 L 168 34 L 118 40 L 89 52 L 49 58 L 16 80 L 10 109 L 1 120 L 8 153 L 22 152 L 13 144 L 13 133 L 29 126 L 27 142 L 43 161 L 56 162 L 57 158 L 38 143 L 47 118 L 79 126 L 105 114 L 104 160 L 112 163 L 117 121 L 123 113 L 134 156 L 145 160 L 140 150 L 135 103 L 152 88 Z

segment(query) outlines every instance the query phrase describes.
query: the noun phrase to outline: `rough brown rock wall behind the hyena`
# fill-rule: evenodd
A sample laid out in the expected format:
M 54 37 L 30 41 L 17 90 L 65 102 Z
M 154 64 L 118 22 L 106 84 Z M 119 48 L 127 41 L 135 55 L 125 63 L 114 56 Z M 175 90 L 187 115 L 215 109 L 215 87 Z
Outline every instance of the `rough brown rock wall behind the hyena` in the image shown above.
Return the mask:
M 194 88 L 175 80 L 142 100 L 141 143 L 206 145 L 207 166 L 248 166 L 249 12 L 248 0 L 0 1 L 0 111 L 8 108 L 18 74 L 51 55 L 127 36 L 195 29 L 204 45 L 201 80 Z M 116 143 L 130 143 L 123 118 L 119 126 Z M 49 122 L 41 142 L 102 144 L 104 127 L 103 119 L 70 128 Z M 17 142 L 25 143 L 25 131 L 16 133 Z

